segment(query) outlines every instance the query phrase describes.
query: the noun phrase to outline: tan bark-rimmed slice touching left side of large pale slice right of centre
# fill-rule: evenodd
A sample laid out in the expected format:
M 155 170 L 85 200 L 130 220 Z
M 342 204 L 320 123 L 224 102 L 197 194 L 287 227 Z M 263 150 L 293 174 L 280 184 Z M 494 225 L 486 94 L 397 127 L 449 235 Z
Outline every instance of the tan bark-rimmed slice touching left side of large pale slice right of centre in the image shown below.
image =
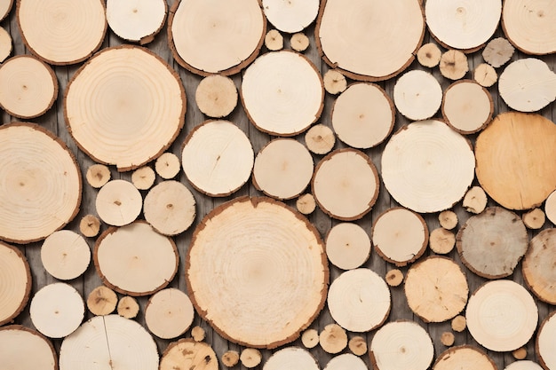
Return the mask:
M 329 216 L 352 221 L 369 213 L 378 197 L 377 168 L 367 154 L 338 149 L 314 170 L 313 194 Z

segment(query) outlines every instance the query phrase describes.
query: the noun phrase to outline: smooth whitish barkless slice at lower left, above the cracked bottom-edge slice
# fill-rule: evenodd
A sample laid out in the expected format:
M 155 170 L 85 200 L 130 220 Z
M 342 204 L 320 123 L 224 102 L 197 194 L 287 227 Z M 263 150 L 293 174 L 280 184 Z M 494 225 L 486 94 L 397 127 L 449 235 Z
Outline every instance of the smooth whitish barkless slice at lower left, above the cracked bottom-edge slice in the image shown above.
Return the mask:
M 36 292 L 29 313 L 36 330 L 51 338 L 63 338 L 81 325 L 85 303 L 75 287 L 54 283 Z

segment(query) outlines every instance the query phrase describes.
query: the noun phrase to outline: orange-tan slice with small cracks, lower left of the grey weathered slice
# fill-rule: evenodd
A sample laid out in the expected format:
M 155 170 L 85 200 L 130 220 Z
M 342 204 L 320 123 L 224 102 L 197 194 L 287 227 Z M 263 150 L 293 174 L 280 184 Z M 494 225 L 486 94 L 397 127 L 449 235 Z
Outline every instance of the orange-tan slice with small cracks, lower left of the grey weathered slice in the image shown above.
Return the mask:
M 452 259 L 442 256 L 413 264 L 404 290 L 409 308 L 425 322 L 452 319 L 464 310 L 469 294 L 465 273 Z

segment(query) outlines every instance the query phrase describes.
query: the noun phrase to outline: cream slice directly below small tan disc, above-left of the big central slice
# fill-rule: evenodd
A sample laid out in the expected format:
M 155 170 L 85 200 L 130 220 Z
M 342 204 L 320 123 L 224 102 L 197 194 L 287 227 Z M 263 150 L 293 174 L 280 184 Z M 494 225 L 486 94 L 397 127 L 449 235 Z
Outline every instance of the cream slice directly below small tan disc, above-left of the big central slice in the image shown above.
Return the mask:
M 207 121 L 187 135 L 181 161 L 195 189 L 223 197 L 249 180 L 255 154 L 249 138 L 234 123 Z

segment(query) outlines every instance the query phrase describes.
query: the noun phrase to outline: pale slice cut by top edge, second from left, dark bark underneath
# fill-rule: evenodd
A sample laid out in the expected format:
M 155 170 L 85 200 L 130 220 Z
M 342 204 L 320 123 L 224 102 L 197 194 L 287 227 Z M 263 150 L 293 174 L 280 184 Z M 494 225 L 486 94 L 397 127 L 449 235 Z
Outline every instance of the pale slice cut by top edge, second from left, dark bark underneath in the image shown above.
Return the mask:
M 144 45 L 163 28 L 167 8 L 164 0 L 107 0 L 108 26 L 124 40 Z

